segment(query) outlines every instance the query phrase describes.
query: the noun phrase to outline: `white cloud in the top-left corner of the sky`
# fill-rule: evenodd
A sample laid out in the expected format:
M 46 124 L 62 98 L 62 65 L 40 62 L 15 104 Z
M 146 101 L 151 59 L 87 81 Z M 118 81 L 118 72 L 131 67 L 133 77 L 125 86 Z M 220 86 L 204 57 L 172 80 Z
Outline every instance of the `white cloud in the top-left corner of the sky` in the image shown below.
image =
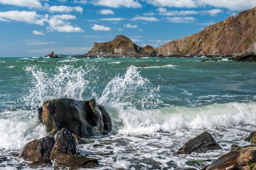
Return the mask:
M 18 7 L 41 8 L 40 0 L 0 0 L 0 4 L 14 5 Z

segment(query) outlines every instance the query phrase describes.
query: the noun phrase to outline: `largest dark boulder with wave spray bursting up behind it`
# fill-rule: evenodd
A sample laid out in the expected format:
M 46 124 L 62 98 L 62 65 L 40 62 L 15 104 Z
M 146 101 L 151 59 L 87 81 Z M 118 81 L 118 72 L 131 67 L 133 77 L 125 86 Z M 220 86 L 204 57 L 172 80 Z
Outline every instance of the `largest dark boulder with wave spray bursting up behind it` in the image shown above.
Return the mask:
M 42 108 L 42 123 L 50 136 L 62 128 L 80 137 L 102 135 L 112 130 L 109 113 L 94 99 L 55 99 L 44 102 Z

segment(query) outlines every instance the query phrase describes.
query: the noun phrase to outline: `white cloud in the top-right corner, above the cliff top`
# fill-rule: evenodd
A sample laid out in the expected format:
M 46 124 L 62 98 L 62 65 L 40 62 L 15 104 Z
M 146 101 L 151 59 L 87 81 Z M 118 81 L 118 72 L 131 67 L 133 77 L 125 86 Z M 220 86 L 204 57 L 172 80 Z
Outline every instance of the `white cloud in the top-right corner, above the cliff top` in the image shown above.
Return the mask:
M 241 11 L 246 9 L 251 9 L 256 6 L 256 0 L 197 0 L 198 6 L 213 6 L 218 8 L 227 8 L 230 11 Z

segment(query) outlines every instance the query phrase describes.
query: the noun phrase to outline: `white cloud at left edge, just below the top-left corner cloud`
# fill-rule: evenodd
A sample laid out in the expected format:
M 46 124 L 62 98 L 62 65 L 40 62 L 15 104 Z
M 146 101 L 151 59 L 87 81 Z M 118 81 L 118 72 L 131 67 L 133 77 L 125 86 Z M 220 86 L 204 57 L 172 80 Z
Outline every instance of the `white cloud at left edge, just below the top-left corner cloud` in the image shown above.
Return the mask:
M 48 21 L 48 15 L 38 15 L 35 11 L 7 11 L 0 12 L 1 21 L 21 21 L 30 24 L 44 26 Z

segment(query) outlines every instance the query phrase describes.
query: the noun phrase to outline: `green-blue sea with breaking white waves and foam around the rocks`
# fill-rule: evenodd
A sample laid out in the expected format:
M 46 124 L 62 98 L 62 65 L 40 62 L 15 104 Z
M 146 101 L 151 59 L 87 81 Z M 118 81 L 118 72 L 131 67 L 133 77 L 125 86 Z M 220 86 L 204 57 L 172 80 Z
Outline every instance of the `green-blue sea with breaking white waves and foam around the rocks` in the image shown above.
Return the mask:
M 94 169 L 201 169 L 256 131 L 256 63 L 202 57 L 0 58 L 0 169 L 31 167 L 15 154 L 47 135 L 44 101 L 96 99 L 112 118 L 108 135 L 83 138 Z M 140 67 L 138 65 L 147 65 Z M 178 155 L 204 131 L 221 150 Z

